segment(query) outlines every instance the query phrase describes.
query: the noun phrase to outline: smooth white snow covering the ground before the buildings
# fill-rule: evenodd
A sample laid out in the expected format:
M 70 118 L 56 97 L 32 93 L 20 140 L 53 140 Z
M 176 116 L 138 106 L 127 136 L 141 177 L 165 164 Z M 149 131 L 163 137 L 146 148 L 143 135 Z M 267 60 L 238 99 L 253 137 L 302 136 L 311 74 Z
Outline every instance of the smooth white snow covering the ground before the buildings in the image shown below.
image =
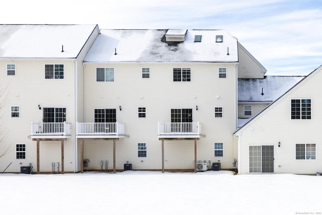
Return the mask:
M 0 214 L 321 214 L 322 177 L 230 171 L 0 174 Z

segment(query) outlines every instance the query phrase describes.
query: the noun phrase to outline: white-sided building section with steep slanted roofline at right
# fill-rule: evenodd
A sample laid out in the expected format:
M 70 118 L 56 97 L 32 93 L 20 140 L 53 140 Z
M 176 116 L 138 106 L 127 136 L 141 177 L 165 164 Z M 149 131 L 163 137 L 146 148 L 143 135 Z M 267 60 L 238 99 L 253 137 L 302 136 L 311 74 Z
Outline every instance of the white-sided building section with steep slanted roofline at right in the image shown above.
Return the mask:
M 239 174 L 322 171 L 321 69 L 315 69 L 235 132 Z

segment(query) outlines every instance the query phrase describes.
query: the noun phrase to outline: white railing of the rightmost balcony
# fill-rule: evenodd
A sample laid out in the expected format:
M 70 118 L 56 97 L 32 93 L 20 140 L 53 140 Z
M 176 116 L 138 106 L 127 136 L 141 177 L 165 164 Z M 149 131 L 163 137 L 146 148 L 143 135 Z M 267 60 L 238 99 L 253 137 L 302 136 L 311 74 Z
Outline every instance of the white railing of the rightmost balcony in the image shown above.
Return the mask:
M 200 135 L 199 122 L 158 122 L 158 135 Z

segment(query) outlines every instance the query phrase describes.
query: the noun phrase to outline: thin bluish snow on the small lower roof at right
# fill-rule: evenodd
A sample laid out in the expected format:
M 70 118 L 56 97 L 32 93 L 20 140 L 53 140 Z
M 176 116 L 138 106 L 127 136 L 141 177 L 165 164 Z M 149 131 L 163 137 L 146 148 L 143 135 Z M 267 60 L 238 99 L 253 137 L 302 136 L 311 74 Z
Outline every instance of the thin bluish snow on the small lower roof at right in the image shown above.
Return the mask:
M 266 76 L 264 79 L 238 79 L 238 102 L 273 102 L 303 78 L 305 77 Z

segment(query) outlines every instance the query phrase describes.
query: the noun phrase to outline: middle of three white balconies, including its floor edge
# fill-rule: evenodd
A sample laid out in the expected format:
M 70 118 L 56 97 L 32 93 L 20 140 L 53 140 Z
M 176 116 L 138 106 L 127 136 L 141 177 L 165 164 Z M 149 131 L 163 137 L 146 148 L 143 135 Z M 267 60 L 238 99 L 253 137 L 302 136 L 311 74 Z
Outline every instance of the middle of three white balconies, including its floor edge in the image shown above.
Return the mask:
M 120 122 L 77 122 L 77 138 L 122 138 L 125 137 L 124 123 Z

